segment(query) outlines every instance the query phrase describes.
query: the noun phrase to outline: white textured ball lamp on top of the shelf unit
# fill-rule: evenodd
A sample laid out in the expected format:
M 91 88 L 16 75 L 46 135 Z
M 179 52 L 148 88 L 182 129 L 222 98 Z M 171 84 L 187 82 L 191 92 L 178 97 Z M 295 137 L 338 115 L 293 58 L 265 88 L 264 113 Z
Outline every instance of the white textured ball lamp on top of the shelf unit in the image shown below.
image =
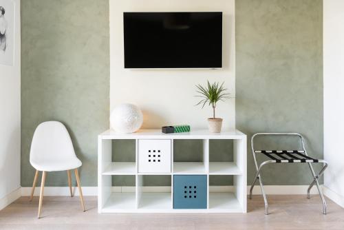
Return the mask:
M 112 110 L 110 125 L 115 132 L 131 134 L 138 131 L 143 123 L 143 114 L 139 107 L 129 103 L 121 104 Z

